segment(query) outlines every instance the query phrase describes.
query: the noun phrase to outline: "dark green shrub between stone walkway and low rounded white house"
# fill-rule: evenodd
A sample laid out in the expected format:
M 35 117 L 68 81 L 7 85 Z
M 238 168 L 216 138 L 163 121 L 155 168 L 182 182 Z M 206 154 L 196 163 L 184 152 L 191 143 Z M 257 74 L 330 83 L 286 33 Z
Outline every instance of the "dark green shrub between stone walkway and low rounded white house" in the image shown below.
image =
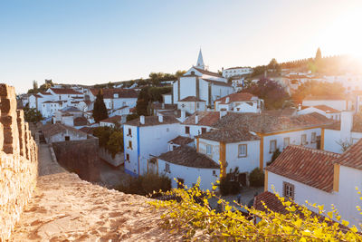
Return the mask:
M 171 179 L 164 175 L 158 176 L 157 174 L 150 173 L 138 176 L 138 178 L 130 178 L 127 185 L 120 185 L 116 189 L 124 193 L 146 196 L 153 193 L 153 191 L 170 190 Z

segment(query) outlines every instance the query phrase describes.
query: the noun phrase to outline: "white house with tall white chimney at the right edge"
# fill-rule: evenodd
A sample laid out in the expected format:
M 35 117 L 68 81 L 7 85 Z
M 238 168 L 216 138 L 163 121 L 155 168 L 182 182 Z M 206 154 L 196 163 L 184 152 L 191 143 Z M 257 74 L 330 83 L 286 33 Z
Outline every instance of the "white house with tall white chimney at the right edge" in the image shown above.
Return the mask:
M 351 144 L 362 138 L 362 115 L 353 111 L 342 111 L 340 122 L 323 129 L 322 149 L 342 153 Z

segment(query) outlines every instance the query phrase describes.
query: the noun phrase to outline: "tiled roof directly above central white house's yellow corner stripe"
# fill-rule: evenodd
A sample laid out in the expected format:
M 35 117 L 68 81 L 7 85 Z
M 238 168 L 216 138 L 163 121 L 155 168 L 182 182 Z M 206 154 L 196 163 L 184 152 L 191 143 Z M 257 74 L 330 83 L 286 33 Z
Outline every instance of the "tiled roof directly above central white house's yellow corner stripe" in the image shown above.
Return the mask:
M 198 136 L 205 140 L 216 140 L 225 143 L 233 143 L 246 140 L 260 140 L 259 136 L 252 134 L 246 130 L 216 130 L 205 132 Z

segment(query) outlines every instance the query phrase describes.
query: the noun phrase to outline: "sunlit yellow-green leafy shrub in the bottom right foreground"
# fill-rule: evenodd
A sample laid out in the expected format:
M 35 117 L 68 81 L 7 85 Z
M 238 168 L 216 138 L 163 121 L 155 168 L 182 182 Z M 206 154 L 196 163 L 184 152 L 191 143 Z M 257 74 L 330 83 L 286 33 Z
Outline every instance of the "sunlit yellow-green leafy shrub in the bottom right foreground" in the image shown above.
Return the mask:
M 199 184 L 199 181 L 198 183 Z M 181 231 L 186 241 L 361 241 L 357 227 L 347 227 L 348 221 L 342 220 L 336 208 L 332 206 L 326 212 L 323 206 L 307 203 L 316 208 L 315 214 L 305 205 L 298 206 L 275 194 L 286 210 L 286 214 L 257 210 L 241 206 L 248 214 L 229 205 L 224 199 L 217 198 L 212 191 L 203 191 L 195 186 L 193 189 L 172 189 L 165 193 L 179 199 L 152 200 L 148 203 L 154 208 L 164 209 L 161 218 L 163 227 L 170 233 Z M 196 198 L 204 194 L 203 203 Z M 208 200 L 217 198 L 217 204 L 224 207 L 218 213 L 210 208 Z M 360 208 L 359 208 L 360 210 Z M 359 211 L 356 211 L 359 213 Z M 323 215 L 325 217 L 320 217 Z M 260 218 L 256 223 L 255 218 Z M 337 219 L 344 227 L 332 222 Z M 198 237 L 195 237 L 198 235 Z M 202 238 L 200 238 L 202 237 Z

